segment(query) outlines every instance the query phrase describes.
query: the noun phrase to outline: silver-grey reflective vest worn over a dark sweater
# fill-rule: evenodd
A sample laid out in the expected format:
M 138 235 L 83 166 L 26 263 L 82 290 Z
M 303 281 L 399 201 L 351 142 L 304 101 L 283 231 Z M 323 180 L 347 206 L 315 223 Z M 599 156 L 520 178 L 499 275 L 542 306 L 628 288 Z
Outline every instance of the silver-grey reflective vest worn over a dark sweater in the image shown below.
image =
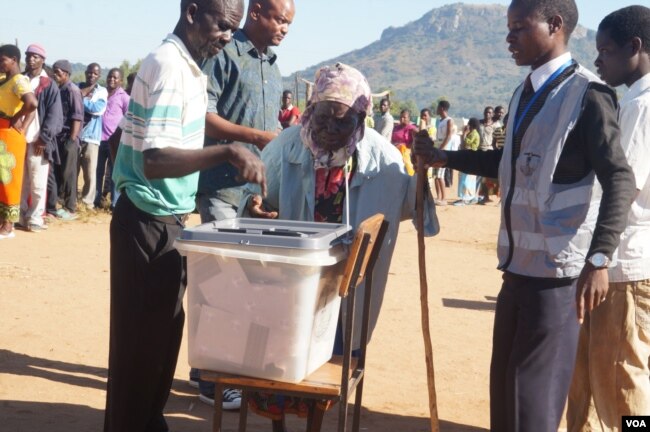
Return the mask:
M 600 80 L 578 66 L 573 75 L 551 90 L 522 139 L 519 156 L 514 161 L 514 185 L 511 185 L 514 125 L 508 123 L 499 166 L 502 196 L 506 197 L 502 200 L 497 247 L 502 270 L 562 278 L 578 276 L 584 265 L 598 216 L 600 187 L 593 172 L 569 185 L 552 181 L 564 143 L 578 121 L 585 92 L 593 81 Z M 516 112 L 522 89 L 520 86 L 515 92 L 509 112 Z M 511 252 L 512 258 L 508 260 Z

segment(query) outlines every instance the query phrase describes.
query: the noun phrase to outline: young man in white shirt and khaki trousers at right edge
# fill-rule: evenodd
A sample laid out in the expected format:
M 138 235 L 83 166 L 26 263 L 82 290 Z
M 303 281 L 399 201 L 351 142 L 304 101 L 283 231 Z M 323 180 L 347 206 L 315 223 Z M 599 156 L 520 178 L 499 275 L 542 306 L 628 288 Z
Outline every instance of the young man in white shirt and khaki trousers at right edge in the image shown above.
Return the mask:
M 628 87 L 618 121 L 637 194 L 605 302 L 580 329 L 569 432 L 618 431 L 626 426 L 623 416 L 650 414 L 650 8 L 629 6 L 606 16 L 596 47 L 601 78 Z

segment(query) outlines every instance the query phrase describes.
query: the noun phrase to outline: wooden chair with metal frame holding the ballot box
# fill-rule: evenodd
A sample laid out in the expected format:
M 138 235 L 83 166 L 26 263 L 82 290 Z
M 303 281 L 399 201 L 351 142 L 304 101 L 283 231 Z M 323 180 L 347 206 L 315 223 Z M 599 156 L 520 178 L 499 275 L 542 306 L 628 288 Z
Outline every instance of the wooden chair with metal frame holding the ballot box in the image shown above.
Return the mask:
M 372 216 L 359 225 L 354 241 L 350 247 L 350 254 L 345 265 L 343 279 L 339 289 L 339 295 L 346 299 L 348 311 L 346 321 L 343 324 L 343 356 L 334 356 L 328 363 L 297 384 L 214 371 L 201 371 L 202 380 L 215 384 L 213 432 L 221 432 L 224 388 L 242 389 L 242 404 L 239 412 L 240 432 L 246 430 L 248 395 L 250 392 L 275 393 L 339 402 L 338 431 L 344 432 L 347 427 L 347 401 L 349 395 L 356 389 L 352 430 L 359 430 L 363 379 L 365 376 L 366 346 L 368 343 L 372 271 L 379 256 L 387 229 L 388 222 L 384 221 L 382 214 Z M 364 279 L 366 283 L 360 337 L 360 355 L 352 358 L 355 294 L 356 288 Z M 307 418 L 308 432 L 317 432 L 321 428 L 325 411 L 316 405 L 312 404 Z M 282 431 L 283 429 L 283 421 L 273 421 L 273 431 Z

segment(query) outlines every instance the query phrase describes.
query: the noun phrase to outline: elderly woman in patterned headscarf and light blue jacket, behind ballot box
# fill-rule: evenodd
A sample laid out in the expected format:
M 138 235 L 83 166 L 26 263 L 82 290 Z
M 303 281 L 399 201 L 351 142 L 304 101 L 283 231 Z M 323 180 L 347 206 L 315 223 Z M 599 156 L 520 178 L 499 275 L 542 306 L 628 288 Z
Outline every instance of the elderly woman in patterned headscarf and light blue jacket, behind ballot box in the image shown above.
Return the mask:
M 240 204 L 242 216 L 349 223 L 383 213 L 390 223 L 373 273 L 370 332 L 384 297 L 391 256 L 402 220 L 415 217 L 416 178 L 410 177 L 400 152 L 375 130 L 364 126 L 371 107 L 370 87 L 356 69 L 344 64 L 316 74 L 311 103 L 301 125 L 284 130 L 262 152 L 268 194 L 253 189 Z M 426 193 L 425 231 L 438 232 L 433 197 Z M 363 286 L 357 291 L 359 298 Z M 361 317 L 362 301 L 357 302 Z M 343 317 L 345 309 L 342 310 Z M 355 322 L 353 348 L 358 348 L 361 322 Z M 335 352 L 341 352 L 337 341 Z M 305 401 L 261 395 L 252 408 L 282 421 L 287 412 L 306 415 Z

